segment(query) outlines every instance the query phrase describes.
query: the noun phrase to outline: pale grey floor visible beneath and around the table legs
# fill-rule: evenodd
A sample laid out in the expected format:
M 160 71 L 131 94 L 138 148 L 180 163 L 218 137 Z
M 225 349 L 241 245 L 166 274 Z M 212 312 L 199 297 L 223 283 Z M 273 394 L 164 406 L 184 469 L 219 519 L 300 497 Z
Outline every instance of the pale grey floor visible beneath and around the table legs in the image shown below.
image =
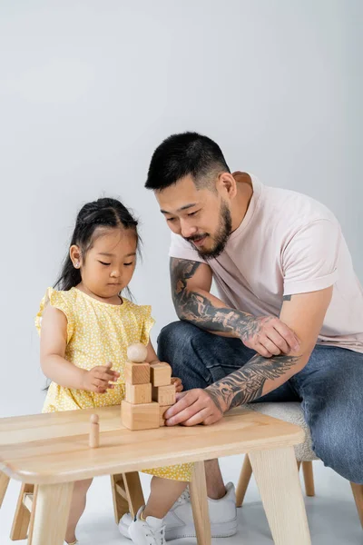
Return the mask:
M 226 481 L 236 483 L 240 471 L 241 456 L 221 461 Z M 360 527 L 354 500 L 348 481 L 333 471 L 314 462 L 316 497 L 306 498 L 309 528 L 313 545 L 362 545 L 363 530 Z M 149 477 L 142 476 L 142 486 L 148 493 Z M 14 543 L 9 539 L 11 520 L 14 515 L 19 483 L 10 483 L 3 508 L 0 510 L 0 545 Z M 260 503 L 255 482 L 251 481 L 245 504 L 238 510 L 239 531 L 228 539 L 213 540 L 213 545 L 269 545 L 272 543 L 269 526 Z M 88 504 L 79 524 L 80 545 L 125 545 L 113 521 L 113 505 L 108 478 L 96 479 L 89 492 Z M 18 541 L 25 543 L 25 541 Z M 195 540 L 175 540 L 174 545 L 194 545 Z M 52 544 L 50 544 L 52 545 Z M 293 543 L 291 543 L 293 545 Z

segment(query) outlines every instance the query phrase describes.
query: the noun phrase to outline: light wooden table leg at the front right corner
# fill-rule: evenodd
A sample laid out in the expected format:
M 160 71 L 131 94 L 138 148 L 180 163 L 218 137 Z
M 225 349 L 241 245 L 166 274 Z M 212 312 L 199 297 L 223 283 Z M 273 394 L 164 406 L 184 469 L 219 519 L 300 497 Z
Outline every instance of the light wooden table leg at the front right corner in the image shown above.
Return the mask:
M 249 456 L 275 545 L 310 545 L 294 449 L 252 451 Z

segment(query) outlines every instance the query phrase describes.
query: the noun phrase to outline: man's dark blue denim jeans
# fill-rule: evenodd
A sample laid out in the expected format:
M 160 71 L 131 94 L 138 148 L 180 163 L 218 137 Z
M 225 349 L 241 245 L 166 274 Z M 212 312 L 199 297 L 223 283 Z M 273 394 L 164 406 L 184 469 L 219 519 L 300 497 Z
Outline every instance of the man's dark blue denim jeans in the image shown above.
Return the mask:
M 185 390 L 206 388 L 256 352 L 189 322 L 173 322 L 158 339 L 161 361 L 172 364 Z M 313 449 L 325 465 L 363 484 L 363 354 L 317 345 L 304 369 L 258 401 L 300 401 Z

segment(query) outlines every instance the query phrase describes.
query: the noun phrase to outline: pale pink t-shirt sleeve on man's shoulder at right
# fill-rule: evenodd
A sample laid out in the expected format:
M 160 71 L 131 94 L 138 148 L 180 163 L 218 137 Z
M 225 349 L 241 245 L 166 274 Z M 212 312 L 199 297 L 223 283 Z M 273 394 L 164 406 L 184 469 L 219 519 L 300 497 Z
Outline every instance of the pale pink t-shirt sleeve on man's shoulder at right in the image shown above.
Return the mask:
M 282 253 L 284 295 L 318 292 L 338 280 L 340 227 L 331 220 L 315 220 L 301 228 Z

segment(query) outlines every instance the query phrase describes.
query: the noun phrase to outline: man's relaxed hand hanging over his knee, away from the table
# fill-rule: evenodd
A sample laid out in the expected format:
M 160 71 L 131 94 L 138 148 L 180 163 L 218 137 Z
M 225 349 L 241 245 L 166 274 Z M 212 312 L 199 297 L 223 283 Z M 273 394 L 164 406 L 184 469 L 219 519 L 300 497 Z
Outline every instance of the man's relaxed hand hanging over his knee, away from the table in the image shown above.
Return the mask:
M 297 335 L 273 316 L 251 317 L 242 329 L 240 340 L 264 358 L 298 352 L 300 345 Z

